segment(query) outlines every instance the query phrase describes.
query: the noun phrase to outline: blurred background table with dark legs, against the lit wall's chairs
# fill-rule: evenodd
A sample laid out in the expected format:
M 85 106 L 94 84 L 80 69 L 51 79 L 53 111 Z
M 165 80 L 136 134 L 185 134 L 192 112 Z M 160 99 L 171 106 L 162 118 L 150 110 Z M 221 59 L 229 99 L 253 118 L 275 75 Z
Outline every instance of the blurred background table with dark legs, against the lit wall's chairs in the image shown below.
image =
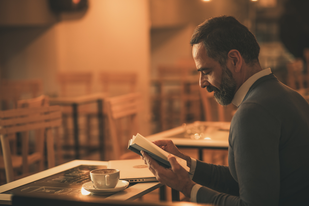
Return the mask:
M 98 108 L 98 125 L 99 125 L 99 146 L 104 148 L 104 116 L 103 105 L 104 98 L 108 97 L 108 93 L 95 93 L 90 95 L 84 95 L 80 97 L 57 97 L 49 100 L 50 105 L 71 106 L 73 116 L 73 135 L 74 135 L 74 150 L 75 159 L 80 159 L 79 155 L 79 135 L 78 135 L 78 106 L 96 102 Z M 100 159 L 104 160 L 104 150 L 100 150 Z

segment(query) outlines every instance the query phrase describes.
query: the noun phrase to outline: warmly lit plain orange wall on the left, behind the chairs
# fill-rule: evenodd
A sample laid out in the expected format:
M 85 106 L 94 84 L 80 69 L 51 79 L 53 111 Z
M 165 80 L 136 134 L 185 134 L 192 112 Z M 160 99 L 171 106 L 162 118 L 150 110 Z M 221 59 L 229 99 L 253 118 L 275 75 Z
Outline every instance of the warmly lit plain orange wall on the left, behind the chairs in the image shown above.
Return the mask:
M 57 95 L 57 72 L 93 72 L 93 92 L 101 89 L 97 79 L 101 71 L 138 72 L 143 96 L 140 133 L 148 135 L 149 2 L 89 0 L 87 12 L 79 18 L 74 15 L 62 14 L 61 21 L 51 26 L 1 28 L 0 37 L 6 38 L 0 40 L 6 48 L 0 49 L 2 78 L 41 78 L 44 93 Z

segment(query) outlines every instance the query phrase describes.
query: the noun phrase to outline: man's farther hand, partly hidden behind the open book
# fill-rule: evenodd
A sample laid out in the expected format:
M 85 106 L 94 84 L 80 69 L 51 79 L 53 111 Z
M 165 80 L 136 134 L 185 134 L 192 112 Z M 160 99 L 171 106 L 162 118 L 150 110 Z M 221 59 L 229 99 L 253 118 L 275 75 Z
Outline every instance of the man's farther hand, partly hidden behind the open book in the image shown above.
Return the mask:
M 187 161 L 187 166 L 189 168 L 191 168 L 191 158 L 188 155 L 185 155 L 184 153 L 180 152 L 178 150 L 178 148 L 175 146 L 175 144 L 173 143 L 173 141 L 171 141 L 170 139 L 161 139 L 161 140 L 156 140 L 156 141 L 152 141 L 155 145 L 159 146 L 161 149 L 177 156 L 180 157 L 181 159 L 184 159 Z M 141 156 L 142 159 L 144 159 Z M 144 160 L 145 164 L 146 161 Z

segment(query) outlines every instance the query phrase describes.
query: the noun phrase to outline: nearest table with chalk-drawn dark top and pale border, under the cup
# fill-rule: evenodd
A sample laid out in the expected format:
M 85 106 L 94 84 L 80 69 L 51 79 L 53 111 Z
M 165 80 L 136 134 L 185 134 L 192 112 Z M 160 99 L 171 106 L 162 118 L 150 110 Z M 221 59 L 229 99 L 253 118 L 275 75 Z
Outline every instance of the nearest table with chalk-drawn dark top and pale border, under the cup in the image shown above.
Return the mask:
M 67 171 L 69 169 L 75 168 L 75 167 L 84 167 L 84 166 L 91 166 L 91 167 L 101 167 L 101 168 L 107 168 L 108 162 L 106 161 L 93 161 L 93 160 L 73 160 L 70 161 L 68 163 L 64 163 L 62 165 L 59 165 L 57 167 L 53 167 L 50 168 L 48 170 L 36 173 L 34 175 L 30 175 L 28 177 L 25 177 L 23 179 L 19 179 L 16 180 L 14 182 L 11 183 L 7 183 L 5 185 L 0 186 L 0 193 L 3 192 L 7 192 L 11 189 L 17 190 L 17 187 L 20 187 L 23 191 L 26 192 L 30 192 L 30 190 L 28 188 L 31 189 L 31 193 L 34 193 L 34 190 L 36 192 L 40 192 L 40 193 L 44 193 L 46 194 L 47 192 L 49 192 L 48 194 L 54 193 L 57 195 L 70 195 L 70 197 L 72 196 L 76 196 L 76 198 L 78 198 L 79 196 L 83 196 L 82 192 L 82 184 L 83 181 L 90 181 L 89 179 L 83 179 L 82 177 L 85 177 L 86 173 L 87 175 L 89 174 L 89 171 L 86 171 L 86 169 L 82 170 L 82 169 L 78 169 L 78 172 L 76 172 L 76 170 L 70 172 L 70 173 L 66 173 L 65 175 L 61 175 L 61 172 L 63 171 Z M 95 166 L 94 166 L 95 165 Z M 58 174 L 59 173 L 59 174 Z M 83 175 L 83 173 L 85 173 L 85 175 Z M 55 175 L 55 176 L 52 176 Z M 79 176 L 78 176 L 79 175 Z M 50 177 L 51 176 L 51 177 Z M 50 179 L 48 179 L 48 177 L 50 177 Z M 77 177 L 74 180 L 70 179 L 70 177 Z M 43 178 L 47 178 L 47 179 L 43 179 Z M 90 176 L 89 176 L 90 178 Z M 42 180 L 43 179 L 43 180 Z M 75 189 L 75 188 L 62 188 L 62 187 L 51 187 L 52 183 L 56 183 L 59 184 L 62 183 L 61 181 L 66 181 L 69 183 L 72 182 L 79 182 L 79 186 L 80 189 Z M 35 182 L 35 184 L 38 185 L 38 187 L 28 187 L 26 184 L 28 183 L 33 183 Z M 48 186 L 44 186 L 42 187 L 42 183 L 46 183 L 48 182 L 49 185 Z M 68 184 L 68 183 L 67 183 Z M 24 186 L 26 185 L 26 186 Z M 33 186 L 33 185 L 31 185 Z M 93 194 L 85 194 L 85 196 L 89 196 L 89 198 L 105 198 L 106 200 L 135 200 L 138 197 L 141 197 L 143 195 L 145 195 L 148 192 L 151 192 L 159 187 L 161 187 L 162 184 L 160 184 L 159 182 L 149 182 L 149 183 L 136 183 L 135 185 L 126 188 L 125 190 L 118 192 L 116 194 L 112 194 L 112 195 L 93 195 Z M 56 189 L 57 189 L 57 192 Z M 39 190 L 40 189 L 40 190 Z M 49 190 L 49 191 L 48 191 Z M 87 191 L 85 191 L 87 192 Z M 20 192 L 21 193 L 21 192 Z M 25 193 L 25 192 L 24 192 Z M 23 194 L 24 194 L 23 193 Z M 54 195 L 51 194 L 51 195 Z M 11 204 L 11 198 L 13 195 L 11 194 L 0 194 L 0 204 Z

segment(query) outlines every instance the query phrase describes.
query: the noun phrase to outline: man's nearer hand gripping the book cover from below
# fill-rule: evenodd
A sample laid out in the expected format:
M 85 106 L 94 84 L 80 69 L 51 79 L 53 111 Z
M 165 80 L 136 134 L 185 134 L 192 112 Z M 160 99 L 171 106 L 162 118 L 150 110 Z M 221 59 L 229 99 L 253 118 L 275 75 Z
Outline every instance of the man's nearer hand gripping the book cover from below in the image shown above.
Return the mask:
M 168 187 L 182 192 L 185 196 L 191 196 L 192 187 L 196 184 L 189 178 L 188 172 L 176 161 L 173 155 L 168 156 L 171 168 L 160 166 L 146 152 L 141 151 L 144 161 L 157 180 Z

